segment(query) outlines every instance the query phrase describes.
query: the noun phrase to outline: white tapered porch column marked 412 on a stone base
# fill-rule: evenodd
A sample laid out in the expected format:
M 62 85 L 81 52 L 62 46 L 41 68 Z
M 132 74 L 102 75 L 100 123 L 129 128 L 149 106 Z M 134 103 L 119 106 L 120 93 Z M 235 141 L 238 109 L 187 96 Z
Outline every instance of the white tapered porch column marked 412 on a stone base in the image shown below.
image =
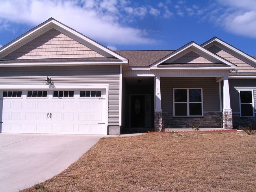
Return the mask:
M 162 130 L 162 107 L 161 107 L 161 88 L 160 88 L 160 76 L 156 76 L 154 81 L 155 88 L 155 117 L 154 128 L 155 131 Z

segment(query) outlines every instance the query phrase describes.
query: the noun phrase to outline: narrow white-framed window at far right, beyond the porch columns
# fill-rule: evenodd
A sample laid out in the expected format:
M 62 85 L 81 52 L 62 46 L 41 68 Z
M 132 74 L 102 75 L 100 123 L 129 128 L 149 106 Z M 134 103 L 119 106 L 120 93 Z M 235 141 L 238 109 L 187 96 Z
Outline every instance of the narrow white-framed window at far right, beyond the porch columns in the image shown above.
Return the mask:
M 239 90 L 240 116 L 254 117 L 254 101 L 252 90 Z

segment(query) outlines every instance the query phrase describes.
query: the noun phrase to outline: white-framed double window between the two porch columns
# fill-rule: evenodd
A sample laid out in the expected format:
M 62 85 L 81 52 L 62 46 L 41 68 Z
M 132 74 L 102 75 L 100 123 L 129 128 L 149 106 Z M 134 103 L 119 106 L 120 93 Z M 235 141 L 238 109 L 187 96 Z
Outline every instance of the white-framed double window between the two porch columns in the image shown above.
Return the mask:
M 202 116 L 202 89 L 173 89 L 174 116 Z

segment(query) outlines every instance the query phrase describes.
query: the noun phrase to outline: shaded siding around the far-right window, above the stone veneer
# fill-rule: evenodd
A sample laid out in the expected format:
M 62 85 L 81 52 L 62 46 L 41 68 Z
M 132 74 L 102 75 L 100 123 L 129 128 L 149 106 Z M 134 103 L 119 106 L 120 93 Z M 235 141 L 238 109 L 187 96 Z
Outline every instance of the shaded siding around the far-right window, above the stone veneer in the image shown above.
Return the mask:
M 233 113 L 240 113 L 239 90 L 253 90 L 256 104 L 256 79 L 229 79 L 230 105 Z

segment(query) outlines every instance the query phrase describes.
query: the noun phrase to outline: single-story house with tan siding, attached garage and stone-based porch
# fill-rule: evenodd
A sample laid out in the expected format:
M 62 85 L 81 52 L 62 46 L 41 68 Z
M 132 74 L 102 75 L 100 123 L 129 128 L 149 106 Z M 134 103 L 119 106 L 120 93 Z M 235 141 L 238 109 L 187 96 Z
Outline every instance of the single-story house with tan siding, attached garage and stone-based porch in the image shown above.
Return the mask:
M 232 129 L 255 120 L 256 59 L 213 37 L 112 51 L 50 18 L 0 48 L 2 133 Z

